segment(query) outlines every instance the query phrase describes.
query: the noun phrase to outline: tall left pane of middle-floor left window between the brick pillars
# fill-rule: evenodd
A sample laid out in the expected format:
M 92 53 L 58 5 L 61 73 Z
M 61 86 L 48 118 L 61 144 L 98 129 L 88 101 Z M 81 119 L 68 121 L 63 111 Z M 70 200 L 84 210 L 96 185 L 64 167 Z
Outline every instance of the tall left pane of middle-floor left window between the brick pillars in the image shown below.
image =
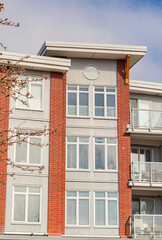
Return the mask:
M 67 145 L 67 168 L 76 168 L 76 145 Z

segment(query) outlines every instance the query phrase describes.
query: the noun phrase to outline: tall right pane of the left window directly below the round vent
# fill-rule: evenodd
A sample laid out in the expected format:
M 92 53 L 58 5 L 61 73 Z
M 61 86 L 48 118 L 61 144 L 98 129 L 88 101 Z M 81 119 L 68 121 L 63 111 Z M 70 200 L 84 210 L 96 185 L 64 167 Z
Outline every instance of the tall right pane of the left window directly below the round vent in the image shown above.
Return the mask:
M 79 115 L 88 116 L 88 93 L 79 93 Z

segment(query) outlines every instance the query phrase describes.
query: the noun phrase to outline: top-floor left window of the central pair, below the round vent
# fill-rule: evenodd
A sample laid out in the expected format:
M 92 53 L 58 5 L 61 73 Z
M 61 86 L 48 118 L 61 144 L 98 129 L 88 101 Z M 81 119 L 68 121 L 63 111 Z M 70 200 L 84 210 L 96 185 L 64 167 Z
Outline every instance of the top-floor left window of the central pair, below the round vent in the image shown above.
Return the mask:
M 69 116 L 89 115 L 89 87 L 68 86 L 67 87 L 67 114 Z

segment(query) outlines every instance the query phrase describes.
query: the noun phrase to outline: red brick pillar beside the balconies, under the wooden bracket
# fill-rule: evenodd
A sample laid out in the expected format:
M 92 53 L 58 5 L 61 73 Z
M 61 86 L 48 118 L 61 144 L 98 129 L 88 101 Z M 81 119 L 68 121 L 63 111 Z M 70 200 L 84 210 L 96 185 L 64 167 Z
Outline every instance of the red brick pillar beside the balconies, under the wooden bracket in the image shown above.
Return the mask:
M 126 133 L 130 123 L 129 85 L 124 84 L 125 60 L 117 60 L 118 87 L 118 156 L 119 156 L 119 224 L 120 236 L 125 237 L 132 214 L 132 190 L 128 187 L 131 164 L 131 140 Z

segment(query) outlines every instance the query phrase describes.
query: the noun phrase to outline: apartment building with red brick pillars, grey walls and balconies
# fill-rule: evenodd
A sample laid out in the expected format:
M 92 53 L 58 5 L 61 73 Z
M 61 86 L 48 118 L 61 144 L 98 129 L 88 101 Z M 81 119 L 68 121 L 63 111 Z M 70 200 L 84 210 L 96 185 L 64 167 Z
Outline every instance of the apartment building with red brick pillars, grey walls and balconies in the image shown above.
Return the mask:
M 129 81 L 146 51 L 45 42 L 24 59 L 29 78 L 47 80 L 29 83 L 29 106 L 1 96 L 0 104 L 14 108 L 3 127 L 58 131 L 9 149 L 15 165 L 45 169 L 1 166 L 0 239 L 161 235 L 162 84 Z

